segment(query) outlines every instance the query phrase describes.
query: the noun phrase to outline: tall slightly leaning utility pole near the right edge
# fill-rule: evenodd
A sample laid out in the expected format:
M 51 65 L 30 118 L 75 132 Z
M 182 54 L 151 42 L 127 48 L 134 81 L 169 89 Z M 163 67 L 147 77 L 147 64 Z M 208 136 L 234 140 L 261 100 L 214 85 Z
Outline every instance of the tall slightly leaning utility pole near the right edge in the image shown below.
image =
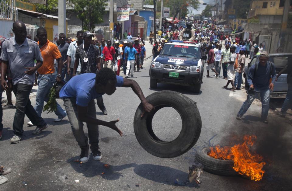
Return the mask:
M 286 32 L 287 32 L 287 22 L 288 22 L 288 15 L 289 15 L 289 8 L 290 8 L 290 0 L 285 0 L 284 2 L 284 10 L 283 10 L 283 17 L 282 17 L 282 27 L 280 33 L 280 52 L 286 52 L 285 45 L 286 45 Z

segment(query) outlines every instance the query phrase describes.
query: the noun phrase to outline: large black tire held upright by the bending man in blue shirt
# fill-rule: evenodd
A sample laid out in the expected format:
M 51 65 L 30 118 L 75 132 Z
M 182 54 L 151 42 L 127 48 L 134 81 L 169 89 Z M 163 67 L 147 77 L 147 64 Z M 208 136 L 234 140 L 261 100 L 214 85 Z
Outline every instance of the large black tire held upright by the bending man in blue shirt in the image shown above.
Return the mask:
M 134 132 L 139 144 L 151 155 L 161 158 L 173 158 L 189 151 L 198 141 L 202 121 L 196 102 L 187 96 L 174 91 L 155 92 L 146 97 L 148 103 L 155 107 L 154 111 L 145 113 L 142 103 L 138 106 L 134 117 Z M 155 113 L 163 107 L 172 107 L 180 114 L 182 130 L 173 141 L 160 140 L 152 129 Z M 167 115 L 167 114 L 166 114 Z

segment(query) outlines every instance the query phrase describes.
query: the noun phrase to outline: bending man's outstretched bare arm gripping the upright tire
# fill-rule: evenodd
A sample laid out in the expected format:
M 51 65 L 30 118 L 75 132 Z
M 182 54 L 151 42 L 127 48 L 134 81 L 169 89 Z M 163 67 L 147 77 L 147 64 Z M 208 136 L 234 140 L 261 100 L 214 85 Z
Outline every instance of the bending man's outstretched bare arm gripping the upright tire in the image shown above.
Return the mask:
M 144 110 L 141 114 L 141 117 L 143 117 L 145 112 L 150 112 L 155 109 L 150 103 L 147 102 L 140 86 L 135 80 L 130 80 L 130 79 L 123 79 L 123 80 L 124 80 L 124 83 L 122 87 L 132 88 L 133 92 L 135 92 L 135 94 L 139 97 L 139 99 L 141 100 L 143 104 Z

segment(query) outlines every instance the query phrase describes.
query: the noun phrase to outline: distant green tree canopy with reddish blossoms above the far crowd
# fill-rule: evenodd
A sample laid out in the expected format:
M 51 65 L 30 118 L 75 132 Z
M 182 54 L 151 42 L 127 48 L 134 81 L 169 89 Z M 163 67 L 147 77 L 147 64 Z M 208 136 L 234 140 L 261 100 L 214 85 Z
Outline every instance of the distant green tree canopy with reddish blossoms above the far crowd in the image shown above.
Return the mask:
M 157 9 L 159 12 L 161 10 L 161 1 L 156 1 Z M 153 0 L 145 0 L 145 5 L 153 5 Z M 189 13 L 188 7 L 193 6 L 193 9 L 197 10 L 199 8 L 200 2 L 199 0 L 164 0 L 163 6 L 170 7 L 170 17 L 176 18 L 179 12 L 181 12 L 181 16 L 185 16 Z

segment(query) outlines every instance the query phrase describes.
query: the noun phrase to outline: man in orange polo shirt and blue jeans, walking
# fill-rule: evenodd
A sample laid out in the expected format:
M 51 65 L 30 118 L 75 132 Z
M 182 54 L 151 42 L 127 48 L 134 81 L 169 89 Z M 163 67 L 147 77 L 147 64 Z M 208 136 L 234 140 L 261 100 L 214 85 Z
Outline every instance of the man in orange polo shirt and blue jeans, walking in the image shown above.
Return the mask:
M 40 27 L 38 28 L 38 30 L 36 30 L 36 35 L 39 38 L 38 44 L 43 57 L 43 65 L 37 70 L 37 72 L 39 73 L 39 77 L 38 89 L 36 92 L 36 106 L 34 106 L 34 109 L 36 110 L 36 113 L 41 116 L 43 111 L 43 103 L 44 101 L 48 101 L 50 89 L 54 85 L 55 80 L 61 82 L 63 62 L 61 53 L 57 45 L 47 39 L 47 30 L 43 27 Z M 54 68 L 54 59 L 56 59 L 58 62 L 57 78 Z M 55 114 L 58 116 L 58 119 L 54 120 L 55 122 L 61 121 L 64 117 L 67 116 L 65 110 L 62 109 L 58 103 Z M 27 124 L 33 125 L 31 121 Z

